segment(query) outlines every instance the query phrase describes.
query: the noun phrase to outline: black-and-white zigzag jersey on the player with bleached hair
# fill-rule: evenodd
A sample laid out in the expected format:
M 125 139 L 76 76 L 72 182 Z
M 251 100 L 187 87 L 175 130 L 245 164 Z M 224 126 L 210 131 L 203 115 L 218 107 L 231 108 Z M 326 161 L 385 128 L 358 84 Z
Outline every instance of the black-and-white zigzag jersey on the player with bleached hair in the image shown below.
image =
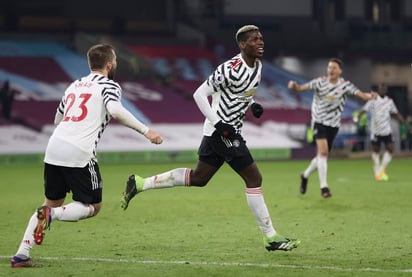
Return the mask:
M 256 60 L 249 67 L 238 54 L 220 64 L 207 78 L 206 84 L 213 89 L 212 111 L 225 123 L 231 124 L 238 133 L 243 126 L 246 111 L 252 103 L 253 95 L 260 83 L 262 62 Z M 214 132 L 213 124 L 206 119 L 204 135 Z

